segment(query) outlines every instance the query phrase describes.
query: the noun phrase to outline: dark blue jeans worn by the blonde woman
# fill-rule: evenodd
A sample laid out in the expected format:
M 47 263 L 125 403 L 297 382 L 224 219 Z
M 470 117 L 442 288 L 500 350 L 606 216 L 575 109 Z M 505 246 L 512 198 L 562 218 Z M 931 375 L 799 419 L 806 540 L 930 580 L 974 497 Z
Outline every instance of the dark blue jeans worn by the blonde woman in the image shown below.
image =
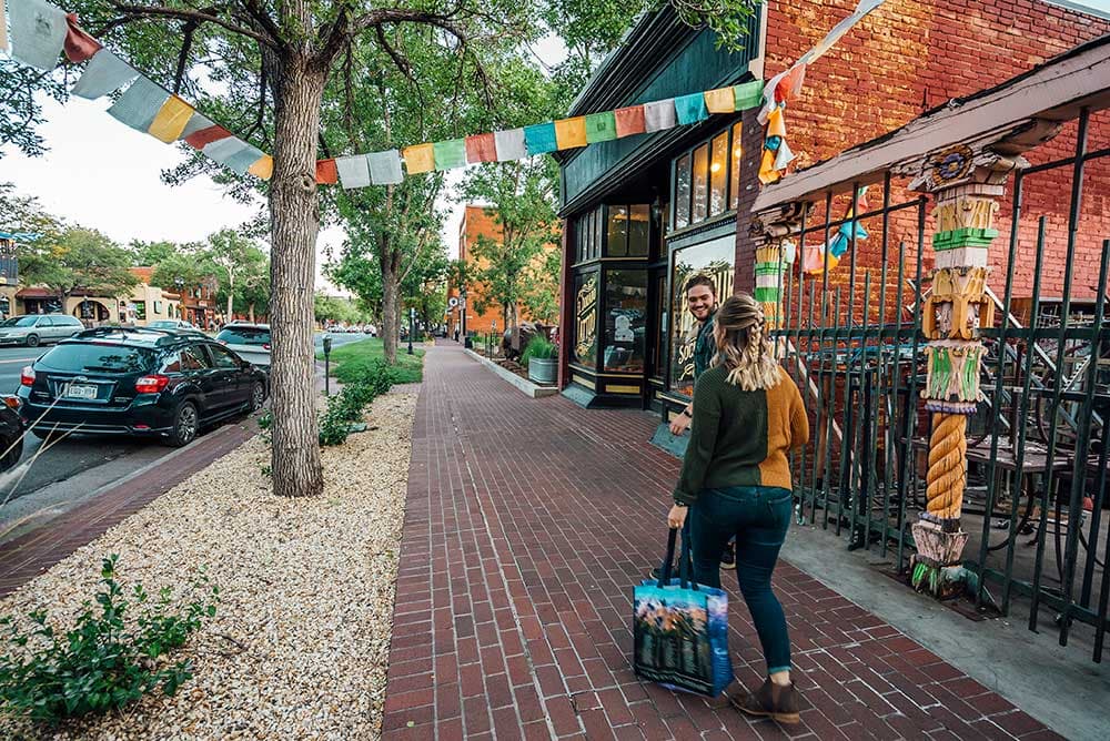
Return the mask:
M 735 486 L 702 491 L 687 518 L 693 520 L 694 578 L 698 583 L 720 587 L 720 551 L 736 538 L 736 577 L 759 633 L 768 674 L 790 668 L 790 636 L 770 577 L 793 510 L 789 489 Z

